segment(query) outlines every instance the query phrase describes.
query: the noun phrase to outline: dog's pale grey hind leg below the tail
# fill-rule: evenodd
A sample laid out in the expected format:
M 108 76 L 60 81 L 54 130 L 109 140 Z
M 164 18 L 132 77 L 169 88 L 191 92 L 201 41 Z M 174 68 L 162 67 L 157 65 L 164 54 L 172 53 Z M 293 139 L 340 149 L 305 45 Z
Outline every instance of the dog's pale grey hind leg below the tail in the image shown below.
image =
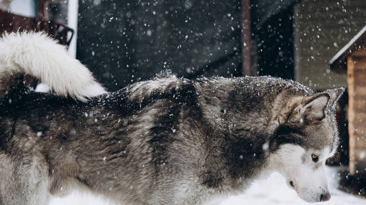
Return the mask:
M 45 167 L 39 159 L 8 156 L 0 150 L 0 204 L 48 204 L 49 176 Z

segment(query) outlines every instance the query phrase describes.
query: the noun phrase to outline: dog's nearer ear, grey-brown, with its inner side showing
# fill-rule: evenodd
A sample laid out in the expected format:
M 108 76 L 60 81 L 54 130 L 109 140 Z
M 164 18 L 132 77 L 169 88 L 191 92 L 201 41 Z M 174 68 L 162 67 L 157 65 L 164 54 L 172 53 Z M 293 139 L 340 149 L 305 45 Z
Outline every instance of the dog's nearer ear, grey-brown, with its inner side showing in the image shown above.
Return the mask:
M 291 111 L 288 122 L 290 124 L 319 122 L 326 116 L 329 101 L 330 95 L 326 92 L 303 98 Z

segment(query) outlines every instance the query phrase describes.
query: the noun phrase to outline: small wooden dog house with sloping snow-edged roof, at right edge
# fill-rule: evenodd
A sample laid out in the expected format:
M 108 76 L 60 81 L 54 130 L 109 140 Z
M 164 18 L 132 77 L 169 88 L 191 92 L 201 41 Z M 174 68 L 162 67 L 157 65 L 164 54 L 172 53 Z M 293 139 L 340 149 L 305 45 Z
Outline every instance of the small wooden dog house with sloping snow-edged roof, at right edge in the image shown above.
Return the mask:
M 366 168 L 366 26 L 330 60 L 330 69 L 347 73 L 350 174 Z

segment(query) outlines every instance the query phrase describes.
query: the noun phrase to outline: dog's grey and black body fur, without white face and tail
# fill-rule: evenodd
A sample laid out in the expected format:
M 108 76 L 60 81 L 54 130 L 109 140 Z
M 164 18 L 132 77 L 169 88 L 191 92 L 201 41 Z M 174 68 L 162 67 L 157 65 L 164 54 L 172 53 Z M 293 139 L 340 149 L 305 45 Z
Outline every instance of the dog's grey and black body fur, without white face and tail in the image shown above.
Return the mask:
M 121 204 L 240 193 L 284 143 L 334 149 L 341 92 L 322 93 L 324 115 L 300 123 L 293 109 L 317 94 L 271 77 L 167 75 L 88 102 L 16 89 L 0 105 L 0 204 L 47 204 L 75 186 Z

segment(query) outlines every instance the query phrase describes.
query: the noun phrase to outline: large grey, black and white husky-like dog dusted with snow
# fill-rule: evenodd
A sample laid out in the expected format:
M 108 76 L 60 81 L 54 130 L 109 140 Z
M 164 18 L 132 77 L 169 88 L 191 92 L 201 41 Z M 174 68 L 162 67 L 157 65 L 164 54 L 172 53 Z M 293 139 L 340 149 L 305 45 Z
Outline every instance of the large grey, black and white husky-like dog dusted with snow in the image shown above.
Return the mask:
M 306 202 L 330 199 L 324 166 L 343 88 L 162 72 L 106 92 L 44 33 L 5 34 L 0 49 L 0 204 L 73 189 L 116 204 L 205 204 L 271 172 Z M 23 74 L 52 93 L 27 88 Z

